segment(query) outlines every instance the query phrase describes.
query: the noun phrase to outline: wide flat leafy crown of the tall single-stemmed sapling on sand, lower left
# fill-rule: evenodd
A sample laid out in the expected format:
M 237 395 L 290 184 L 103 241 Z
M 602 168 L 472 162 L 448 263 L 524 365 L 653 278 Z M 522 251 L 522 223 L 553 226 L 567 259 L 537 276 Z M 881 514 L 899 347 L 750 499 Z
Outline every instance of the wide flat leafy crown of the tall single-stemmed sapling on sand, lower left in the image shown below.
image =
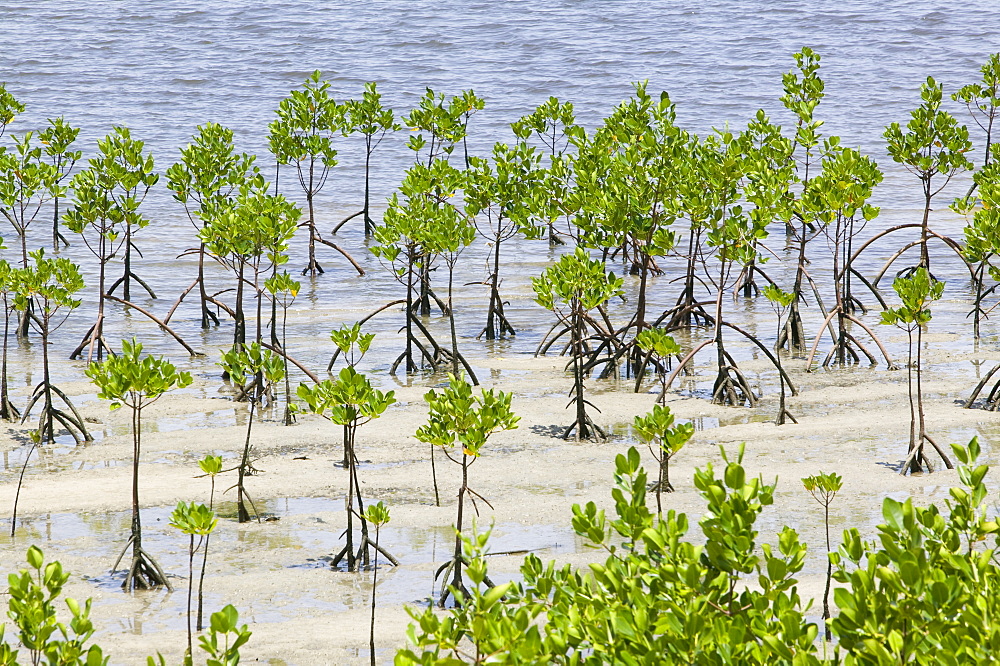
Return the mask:
M 167 391 L 191 385 L 191 373 L 178 370 L 162 356 L 142 356 L 142 343 L 135 338 L 122 340 L 121 353 L 86 370 L 100 392 L 98 398 L 111 401 L 111 409 L 122 405 L 141 410 Z M 136 433 L 138 435 L 138 433 Z

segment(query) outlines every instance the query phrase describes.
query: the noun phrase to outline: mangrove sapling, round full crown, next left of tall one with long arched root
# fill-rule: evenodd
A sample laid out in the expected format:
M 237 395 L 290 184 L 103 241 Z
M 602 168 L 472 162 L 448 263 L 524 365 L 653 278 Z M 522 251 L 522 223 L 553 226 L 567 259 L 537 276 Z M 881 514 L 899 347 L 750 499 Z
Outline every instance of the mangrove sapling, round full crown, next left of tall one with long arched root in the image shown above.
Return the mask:
M 240 186 L 258 175 L 256 158 L 247 153 L 236 153 L 233 131 L 217 123 L 198 127 L 192 142 L 181 148 L 181 161 L 167 169 L 167 186 L 175 200 L 184 206 L 188 220 L 199 232 L 229 210 Z M 200 238 L 200 234 L 199 234 Z M 205 242 L 186 251 L 198 255 L 198 276 L 185 289 L 164 318 L 169 322 L 174 310 L 184 297 L 198 287 L 201 307 L 201 327 L 219 324 L 219 317 L 209 307 L 219 306 L 217 293 L 209 294 L 205 285 Z M 183 256 L 183 255 L 182 255 Z

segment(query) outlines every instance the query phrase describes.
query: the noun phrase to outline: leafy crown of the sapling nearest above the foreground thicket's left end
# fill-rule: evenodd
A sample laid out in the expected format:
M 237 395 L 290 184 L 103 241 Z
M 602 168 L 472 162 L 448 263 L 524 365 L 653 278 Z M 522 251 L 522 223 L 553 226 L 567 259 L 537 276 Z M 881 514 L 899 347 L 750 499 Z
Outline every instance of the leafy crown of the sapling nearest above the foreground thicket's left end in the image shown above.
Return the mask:
M 424 394 L 430 413 L 415 437 L 445 449 L 457 444 L 463 454 L 478 457 L 491 435 L 517 428 L 521 417 L 511 411 L 512 398 L 511 393 L 493 389 L 474 396 L 465 379 L 449 375 L 448 388 Z

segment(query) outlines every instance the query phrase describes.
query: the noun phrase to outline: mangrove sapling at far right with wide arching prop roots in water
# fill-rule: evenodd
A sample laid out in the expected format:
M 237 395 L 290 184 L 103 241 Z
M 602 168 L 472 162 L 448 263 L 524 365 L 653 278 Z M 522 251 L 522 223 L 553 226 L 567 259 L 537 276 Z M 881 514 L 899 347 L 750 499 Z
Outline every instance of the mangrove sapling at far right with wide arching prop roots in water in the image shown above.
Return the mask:
M 941 108 L 941 97 L 941 86 L 933 77 L 927 77 L 926 83 L 920 86 L 920 98 L 923 102 L 910 112 L 910 121 L 906 124 L 905 131 L 899 123 L 892 123 L 883 133 L 889 156 L 920 180 L 924 206 L 923 217 L 919 223 L 901 224 L 886 229 L 870 238 L 855 253 L 856 257 L 871 243 L 888 234 L 901 229 L 920 228 L 919 240 L 908 243 L 889 258 L 872 280 L 875 286 L 878 286 L 879 280 L 893 262 L 907 249 L 916 245 L 920 246 L 920 261 L 916 266 L 903 269 L 899 275 L 909 276 L 918 267 L 926 268 L 929 272 L 931 265 L 928 242 L 932 237 L 940 239 L 947 247 L 959 253 L 955 241 L 932 230 L 929 224 L 933 198 L 947 187 L 956 175 L 972 168 L 972 162 L 965 155 L 972 150 L 969 129 L 965 125 L 959 125 L 954 116 Z M 853 259 L 852 257 L 852 261 Z M 931 273 L 931 278 L 933 277 Z

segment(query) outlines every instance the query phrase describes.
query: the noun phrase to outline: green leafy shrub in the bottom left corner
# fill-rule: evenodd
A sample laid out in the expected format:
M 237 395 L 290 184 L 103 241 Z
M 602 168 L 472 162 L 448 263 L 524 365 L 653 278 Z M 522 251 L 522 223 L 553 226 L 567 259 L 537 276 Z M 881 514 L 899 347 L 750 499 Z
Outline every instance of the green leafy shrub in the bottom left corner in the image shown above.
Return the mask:
M 39 664 L 44 659 L 49 664 L 80 664 L 103 666 L 108 660 L 97 645 L 86 647 L 94 634 L 90 621 L 90 600 L 81 605 L 75 599 L 66 599 L 72 614 L 68 626 L 58 620 L 55 600 L 69 580 L 59 562 L 45 563 L 42 551 L 36 546 L 28 548 L 28 569 L 7 577 L 7 616 L 18 632 L 18 640 L 28 651 L 30 663 Z M 0 630 L 0 639 L 3 633 Z M 17 663 L 17 651 L 6 641 L 0 644 L 0 664 Z

